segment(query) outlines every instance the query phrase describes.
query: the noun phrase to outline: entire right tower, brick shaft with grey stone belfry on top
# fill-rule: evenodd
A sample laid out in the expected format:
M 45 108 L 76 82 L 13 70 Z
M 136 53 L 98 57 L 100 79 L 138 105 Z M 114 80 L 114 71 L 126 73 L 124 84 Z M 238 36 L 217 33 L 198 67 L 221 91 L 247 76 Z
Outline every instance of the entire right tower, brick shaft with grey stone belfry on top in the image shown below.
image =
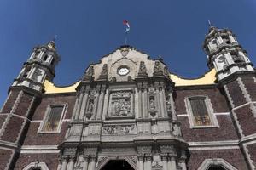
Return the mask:
M 208 66 L 229 100 L 239 145 L 249 169 L 256 169 L 256 72 L 230 29 L 209 28 L 203 45 Z

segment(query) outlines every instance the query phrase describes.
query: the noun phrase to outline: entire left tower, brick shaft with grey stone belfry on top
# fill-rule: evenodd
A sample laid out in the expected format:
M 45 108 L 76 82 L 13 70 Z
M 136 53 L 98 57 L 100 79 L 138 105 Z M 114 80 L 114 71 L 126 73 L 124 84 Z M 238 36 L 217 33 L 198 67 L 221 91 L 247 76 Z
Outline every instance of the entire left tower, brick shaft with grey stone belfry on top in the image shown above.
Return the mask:
M 31 57 L 9 88 L 9 96 L 0 111 L 1 169 L 14 168 L 32 111 L 44 92 L 44 81 L 55 77 L 55 65 L 59 60 L 54 41 L 33 48 Z

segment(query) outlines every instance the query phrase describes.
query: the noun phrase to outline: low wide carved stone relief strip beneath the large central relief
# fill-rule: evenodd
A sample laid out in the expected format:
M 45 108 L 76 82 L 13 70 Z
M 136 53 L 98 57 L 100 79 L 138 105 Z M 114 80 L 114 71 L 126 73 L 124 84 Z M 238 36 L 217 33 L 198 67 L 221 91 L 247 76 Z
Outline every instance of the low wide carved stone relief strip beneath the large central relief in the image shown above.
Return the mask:
M 102 127 L 102 134 L 134 134 L 136 133 L 135 125 L 108 125 Z

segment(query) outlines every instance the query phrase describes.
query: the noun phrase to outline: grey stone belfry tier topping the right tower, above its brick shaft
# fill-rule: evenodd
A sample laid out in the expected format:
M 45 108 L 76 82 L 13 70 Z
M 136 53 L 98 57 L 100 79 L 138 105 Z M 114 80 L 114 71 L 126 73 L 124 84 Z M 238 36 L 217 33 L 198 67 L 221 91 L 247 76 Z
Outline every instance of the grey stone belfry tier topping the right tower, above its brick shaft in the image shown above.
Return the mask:
M 203 44 L 207 53 L 208 66 L 217 71 L 216 77 L 222 80 L 239 71 L 253 71 L 253 64 L 247 52 L 237 42 L 230 29 L 218 29 L 209 24 L 209 32 Z

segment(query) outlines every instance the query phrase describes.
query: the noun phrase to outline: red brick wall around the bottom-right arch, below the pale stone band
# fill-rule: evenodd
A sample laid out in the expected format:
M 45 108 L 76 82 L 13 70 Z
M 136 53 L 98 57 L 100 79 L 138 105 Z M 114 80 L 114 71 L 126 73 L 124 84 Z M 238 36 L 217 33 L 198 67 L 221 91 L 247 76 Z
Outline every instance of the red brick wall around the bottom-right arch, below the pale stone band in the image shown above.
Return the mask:
M 208 158 L 223 158 L 239 170 L 247 169 L 241 150 L 191 150 L 190 154 L 189 170 L 197 170 L 201 163 Z

